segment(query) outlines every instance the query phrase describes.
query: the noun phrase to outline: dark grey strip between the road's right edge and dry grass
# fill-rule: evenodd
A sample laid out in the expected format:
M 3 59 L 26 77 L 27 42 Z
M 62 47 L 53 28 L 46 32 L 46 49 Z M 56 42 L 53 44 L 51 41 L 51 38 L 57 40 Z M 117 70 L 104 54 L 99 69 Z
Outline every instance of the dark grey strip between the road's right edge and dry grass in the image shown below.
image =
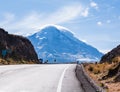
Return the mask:
M 77 65 L 76 67 L 76 76 L 81 83 L 81 86 L 85 92 L 105 92 L 101 87 L 99 87 L 93 79 L 91 79 L 86 71 L 84 70 L 83 65 Z

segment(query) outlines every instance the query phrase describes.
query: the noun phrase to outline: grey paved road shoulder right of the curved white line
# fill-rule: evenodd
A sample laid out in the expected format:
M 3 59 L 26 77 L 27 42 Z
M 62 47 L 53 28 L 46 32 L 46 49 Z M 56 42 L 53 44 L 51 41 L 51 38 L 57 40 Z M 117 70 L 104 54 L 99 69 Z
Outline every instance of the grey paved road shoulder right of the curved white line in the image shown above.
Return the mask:
M 61 92 L 83 92 L 79 80 L 75 74 L 76 65 L 71 65 L 67 70 L 62 82 Z

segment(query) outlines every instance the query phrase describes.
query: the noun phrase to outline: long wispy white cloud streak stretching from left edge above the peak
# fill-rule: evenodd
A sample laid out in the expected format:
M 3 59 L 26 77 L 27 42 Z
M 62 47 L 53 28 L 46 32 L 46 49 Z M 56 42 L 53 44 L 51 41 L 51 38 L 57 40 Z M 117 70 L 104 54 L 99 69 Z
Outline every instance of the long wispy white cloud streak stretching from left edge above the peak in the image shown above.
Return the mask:
M 0 24 L 10 30 L 10 33 L 25 35 L 34 33 L 46 24 L 62 24 L 74 20 L 80 16 L 88 16 L 88 8 L 84 9 L 80 4 L 65 6 L 50 14 L 32 12 L 20 19 L 14 14 L 6 13 L 5 20 Z M 14 22 L 13 22 L 14 20 Z M 16 31 L 17 30 L 17 31 Z

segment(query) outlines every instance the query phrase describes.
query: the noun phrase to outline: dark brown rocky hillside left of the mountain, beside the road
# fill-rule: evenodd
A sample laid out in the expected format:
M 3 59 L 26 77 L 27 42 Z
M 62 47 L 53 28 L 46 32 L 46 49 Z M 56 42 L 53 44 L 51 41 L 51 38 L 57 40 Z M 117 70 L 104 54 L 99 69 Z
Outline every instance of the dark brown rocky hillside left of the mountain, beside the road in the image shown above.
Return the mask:
M 0 64 L 39 63 L 31 42 L 0 28 Z

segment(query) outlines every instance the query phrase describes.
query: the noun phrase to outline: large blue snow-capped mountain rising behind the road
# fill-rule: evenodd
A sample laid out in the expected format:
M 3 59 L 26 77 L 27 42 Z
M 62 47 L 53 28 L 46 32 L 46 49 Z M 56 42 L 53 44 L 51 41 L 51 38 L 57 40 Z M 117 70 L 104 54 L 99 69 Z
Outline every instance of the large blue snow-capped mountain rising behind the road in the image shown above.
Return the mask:
M 77 39 L 67 28 L 45 26 L 28 37 L 39 58 L 49 62 L 96 61 L 102 56 L 97 49 Z

